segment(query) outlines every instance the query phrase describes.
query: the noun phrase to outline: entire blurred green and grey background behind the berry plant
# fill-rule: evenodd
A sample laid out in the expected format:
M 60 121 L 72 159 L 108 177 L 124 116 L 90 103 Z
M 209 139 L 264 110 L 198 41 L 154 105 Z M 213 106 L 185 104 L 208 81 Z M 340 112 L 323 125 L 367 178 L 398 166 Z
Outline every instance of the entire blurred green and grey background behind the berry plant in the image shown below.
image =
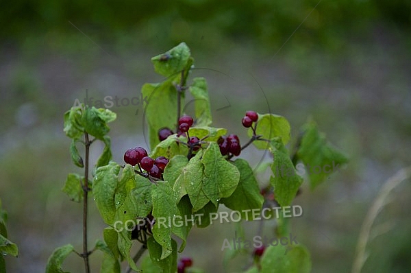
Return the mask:
M 76 98 L 139 96 L 155 75 L 151 56 L 181 41 L 195 58 L 193 75 L 210 86 L 216 126 L 246 141 L 245 110 L 290 121 L 293 136 L 311 116 L 351 161 L 295 204 L 292 232 L 312 255 L 312 272 L 350 272 L 362 220 L 384 181 L 411 164 L 411 2 L 380 1 L 2 1 L 0 10 L 0 198 L 9 213 L 17 259 L 8 272 L 44 272 L 54 248 L 81 248 L 82 207 L 60 191 L 79 171 L 62 131 Z M 315 7 L 315 8 L 314 8 Z M 229 106 L 229 107 L 225 107 Z M 147 147 L 141 106 L 113 107 L 114 160 Z M 190 106 L 187 106 L 190 111 Z M 93 146 L 92 160 L 102 147 Z M 242 156 L 256 166 L 264 155 Z M 262 185 L 267 176 L 261 176 Z M 410 272 L 411 187 L 403 182 L 375 226 L 362 272 Z M 90 202 L 92 203 L 92 202 Z M 272 235 L 274 222 L 265 224 Z M 249 238 L 258 223 L 246 223 Z M 90 244 L 104 227 L 90 207 Z M 224 272 L 221 246 L 235 224 L 195 228 L 184 255 L 206 272 Z M 225 272 L 241 270 L 238 257 Z M 99 268 L 92 256 L 92 270 Z M 66 270 L 82 272 L 73 255 Z

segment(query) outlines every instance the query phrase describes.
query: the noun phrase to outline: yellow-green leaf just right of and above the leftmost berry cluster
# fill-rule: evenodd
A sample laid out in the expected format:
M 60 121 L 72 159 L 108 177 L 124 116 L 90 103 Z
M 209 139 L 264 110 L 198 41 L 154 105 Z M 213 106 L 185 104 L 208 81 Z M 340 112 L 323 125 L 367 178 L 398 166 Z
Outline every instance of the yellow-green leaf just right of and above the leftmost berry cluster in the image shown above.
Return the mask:
M 153 152 L 151 152 L 151 158 L 157 158 L 158 156 L 164 156 L 166 158 L 173 158 L 176 155 L 188 154 L 188 147 L 182 143 L 177 143 L 179 138 L 175 134 L 169 136 L 164 141 L 158 143 L 155 146 Z M 181 141 L 186 142 L 187 139 L 180 137 Z

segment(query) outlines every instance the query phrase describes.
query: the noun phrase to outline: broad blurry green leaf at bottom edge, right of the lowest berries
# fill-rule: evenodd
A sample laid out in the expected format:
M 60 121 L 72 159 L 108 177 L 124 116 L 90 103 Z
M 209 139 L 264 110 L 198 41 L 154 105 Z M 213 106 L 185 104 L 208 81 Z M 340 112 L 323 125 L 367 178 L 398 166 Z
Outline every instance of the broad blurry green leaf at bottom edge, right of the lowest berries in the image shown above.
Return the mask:
M 286 252 L 287 248 L 291 248 Z M 311 261 L 303 246 L 269 246 L 261 257 L 262 273 L 310 273 Z

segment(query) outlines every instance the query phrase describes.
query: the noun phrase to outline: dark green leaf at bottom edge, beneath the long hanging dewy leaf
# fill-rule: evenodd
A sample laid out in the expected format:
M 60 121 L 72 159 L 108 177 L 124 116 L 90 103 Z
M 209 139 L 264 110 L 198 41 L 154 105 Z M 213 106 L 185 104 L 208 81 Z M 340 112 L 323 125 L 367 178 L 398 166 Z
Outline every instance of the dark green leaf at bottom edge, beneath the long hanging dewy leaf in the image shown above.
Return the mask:
M 158 241 L 153 237 L 147 239 L 147 247 L 149 248 L 151 261 L 155 265 L 158 265 L 161 273 L 175 273 L 177 271 L 177 243 L 171 239 L 170 246 L 171 254 L 163 257 L 164 247 L 158 244 Z

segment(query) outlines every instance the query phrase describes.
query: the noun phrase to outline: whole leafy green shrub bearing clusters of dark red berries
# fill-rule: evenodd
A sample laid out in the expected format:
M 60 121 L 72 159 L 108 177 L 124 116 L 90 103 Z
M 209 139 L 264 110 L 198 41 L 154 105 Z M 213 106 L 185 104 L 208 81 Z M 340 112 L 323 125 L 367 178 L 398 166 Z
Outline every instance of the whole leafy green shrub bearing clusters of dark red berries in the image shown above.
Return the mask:
M 212 127 L 206 80 L 193 78 L 188 83 L 193 59 L 186 44 L 151 60 L 155 71 L 166 77 L 163 82 L 142 86 L 142 95 L 149 98 L 144 107 L 151 152 L 136 147 L 125 152 L 125 165 L 110 161 L 107 123 L 116 119 L 114 112 L 80 105 L 64 115 L 64 132 L 72 139 L 71 158 L 75 165 L 84 168 L 82 175 L 69 174 L 63 188 L 72 200 L 83 202 L 83 250 L 76 252 L 70 244 L 56 249 L 49 258 L 47 273 L 62 272 L 62 262 L 71 252 L 82 257 L 88 273 L 89 257 L 96 250 L 104 253 L 100 272 L 121 272 L 121 261 L 126 260 L 127 272 L 175 273 L 177 252 L 184 250 L 191 228 L 210 225 L 211 215 L 221 204 L 249 221 L 256 219 L 256 211 L 268 202 L 276 204 L 284 214 L 303 183 L 297 163 L 322 167 L 347 162 L 343 154 L 327 143 L 313 121 L 303 126 L 295 152 L 290 155 L 285 146 L 290 142 L 290 124 L 284 117 L 271 113 L 246 113 L 242 124 L 248 128 L 249 141 L 241 146 L 236 134 L 225 137 L 225 128 Z M 195 98 L 194 118 L 182 112 L 187 91 Z M 169 128 L 175 128 L 176 133 Z M 105 149 L 92 170 L 93 179 L 89 180 L 90 145 L 95 141 L 102 141 Z M 84 159 L 77 143 L 84 145 Z M 274 175 L 263 193 L 249 163 L 235 158 L 251 144 L 273 156 L 270 167 Z M 327 176 L 329 171 L 311 172 L 311 187 Z M 97 241 L 91 250 L 87 239 L 89 193 L 108 225 L 103 230 L 104 240 Z M 275 218 L 274 213 L 271 217 Z M 183 224 L 182 219 L 186 219 Z M 282 237 L 288 233 L 288 219 L 277 217 L 275 235 Z M 175 237 L 182 241 L 179 247 Z M 140 244 L 134 255 L 133 244 Z M 285 248 L 289 250 L 287 255 Z M 137 261 L 146 249 L 149 255 L 138 266 Z M 229 255 L 234 257 L 233 253 Z M 260 246 L 251 255 L 255 259 L 247 272 L 310 272 L 308 250 L 292 245 L 291 238 L 287 246 Z M 191 265 L 184 261 L 184 266 L 178 265 L 179 272 Z M 201 272 L 198 268 L 189 270 Z

